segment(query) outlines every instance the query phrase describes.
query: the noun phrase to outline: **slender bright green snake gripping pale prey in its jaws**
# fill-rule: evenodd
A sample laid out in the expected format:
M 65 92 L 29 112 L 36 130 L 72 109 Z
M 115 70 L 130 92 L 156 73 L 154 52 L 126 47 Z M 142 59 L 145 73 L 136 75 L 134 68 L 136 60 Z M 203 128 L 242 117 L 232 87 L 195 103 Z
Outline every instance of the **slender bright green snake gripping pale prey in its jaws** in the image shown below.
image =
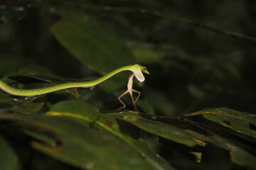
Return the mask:
M 41 94 L 48 94 L 53 91 L 63 90 L 63 89 L 70 89 L 70 88 L 89 88 L 92 86 L 95 86 L 97 84 L 100 84 L 102 81 L 105 81 L 109 79 L 110 77 L 114 76 L 114 74 L 117 74 L 119 72 L 123 72 L 125 70 L 129 70 L 133 72 L 134 76 L 141 82 L 145 80 L 145 77 L 143 73 L 149 74 L 146 67 L 143 67 L 139 64 L 133 64 L 133 65 L 127 65 L 124 67 L 120 67 L 119 69 L 115 69 L 114 71 L 110 72 L 109 74 L 106 74 L 103 77 L 100 77 L 99 79 L 95 79 L 92 81 L 78 81 L 78 82 L 68 82 L 64 84 L 57 84 L 53 86 L 43 87 L 39 89 L 16 89 L 12 86 L 9 86 L 4 81 L 0 80 L 0 89 L 3 91 L 6 91 L 9 94 L 15 95 L 15 96 L 36 96 Z

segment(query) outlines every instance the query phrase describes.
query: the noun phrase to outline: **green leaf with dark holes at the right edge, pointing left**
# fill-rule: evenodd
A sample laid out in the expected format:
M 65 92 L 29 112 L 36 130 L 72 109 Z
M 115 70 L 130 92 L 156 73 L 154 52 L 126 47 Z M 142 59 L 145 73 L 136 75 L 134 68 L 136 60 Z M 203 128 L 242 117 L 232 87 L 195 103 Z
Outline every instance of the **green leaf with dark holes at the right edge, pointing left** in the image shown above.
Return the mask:
M 205 108 L 203 117 L 237 132 L 256 138 L 256 115 L 229 108 Z

